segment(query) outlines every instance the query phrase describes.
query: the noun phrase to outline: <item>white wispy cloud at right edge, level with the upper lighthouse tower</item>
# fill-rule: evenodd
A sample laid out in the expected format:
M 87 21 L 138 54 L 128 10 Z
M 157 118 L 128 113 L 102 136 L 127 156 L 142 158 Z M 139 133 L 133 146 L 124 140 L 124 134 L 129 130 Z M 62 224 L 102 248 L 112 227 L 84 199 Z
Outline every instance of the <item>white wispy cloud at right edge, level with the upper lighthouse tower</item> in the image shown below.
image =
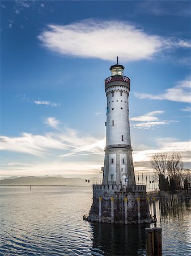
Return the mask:
M 177 102 L 190 102 L 190 80 L 177 82 L 177 85 L 165 90 L 164 93 L 154 95 L 147 93 L 134 93 L 138 98 L 148 98 L 150 100 L 169 100 Z

